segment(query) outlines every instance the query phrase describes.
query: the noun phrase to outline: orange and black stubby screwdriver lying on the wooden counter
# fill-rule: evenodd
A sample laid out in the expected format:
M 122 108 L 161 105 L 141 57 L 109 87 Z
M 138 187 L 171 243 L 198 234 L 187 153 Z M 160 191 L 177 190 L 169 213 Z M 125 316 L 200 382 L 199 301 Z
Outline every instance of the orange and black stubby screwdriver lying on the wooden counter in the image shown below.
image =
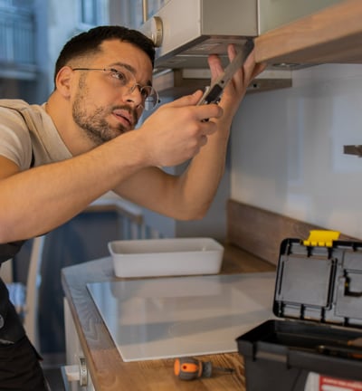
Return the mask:
M 211 361 L 200 361 L 196 358 L 176 358 L 174 373 L 181 380 L 194 380 L 199 377 L 211 377 L 213 368 L 218 371 L 233 373 L 233 368 L 213 367 Z

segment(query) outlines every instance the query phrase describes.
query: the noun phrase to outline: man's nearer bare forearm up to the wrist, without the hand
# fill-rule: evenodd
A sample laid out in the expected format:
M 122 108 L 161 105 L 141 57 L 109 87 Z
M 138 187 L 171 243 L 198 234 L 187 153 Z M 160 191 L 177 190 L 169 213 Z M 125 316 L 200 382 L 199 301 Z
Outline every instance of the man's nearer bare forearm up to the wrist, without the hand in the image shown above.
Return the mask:
M 145 164 L 133 145 L 124 137 L 122 143 L 111 141 L 79 157 L 2 179 L 0 243 L 49 232 L 132 175 Z

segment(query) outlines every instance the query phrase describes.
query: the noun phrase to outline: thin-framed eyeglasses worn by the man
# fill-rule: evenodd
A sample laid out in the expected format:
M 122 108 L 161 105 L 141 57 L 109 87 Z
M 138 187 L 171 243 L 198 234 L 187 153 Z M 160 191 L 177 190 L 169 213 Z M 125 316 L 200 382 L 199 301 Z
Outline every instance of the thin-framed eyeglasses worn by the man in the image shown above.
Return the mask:
M 135 75 L 126 68 L 122 71 L 115 68 L 72 68 L 73 71 L 101 71 L 110 74 L 110 77 L 115 79 L 119 87 L 126 87 L 129 89 L 128 93 L 135 91 L 136 87 L 141 94 L 143 100 L 143 108 L 145 110 L 154 109 L 159 100 L 157 91 L 151 85 L 141 85 L 136 81 Z

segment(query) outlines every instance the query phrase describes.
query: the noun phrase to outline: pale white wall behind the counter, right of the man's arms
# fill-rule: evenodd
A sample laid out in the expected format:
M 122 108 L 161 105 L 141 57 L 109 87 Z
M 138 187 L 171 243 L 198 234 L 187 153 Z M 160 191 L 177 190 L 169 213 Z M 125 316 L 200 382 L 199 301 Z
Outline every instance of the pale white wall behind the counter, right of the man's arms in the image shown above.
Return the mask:
M 362 238 L 362 65 L 293 73 L 247 96 L 233 123 L 231 197 Z

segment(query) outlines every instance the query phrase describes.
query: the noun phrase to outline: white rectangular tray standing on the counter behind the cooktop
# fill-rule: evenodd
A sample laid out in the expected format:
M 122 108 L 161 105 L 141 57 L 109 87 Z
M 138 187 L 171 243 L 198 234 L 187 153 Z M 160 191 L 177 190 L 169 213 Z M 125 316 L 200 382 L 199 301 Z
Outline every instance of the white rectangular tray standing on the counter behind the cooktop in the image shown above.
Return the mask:
M 224 247 L 211 238 L 144 239 L 108 244 L 117 277 L 216 274 Z

